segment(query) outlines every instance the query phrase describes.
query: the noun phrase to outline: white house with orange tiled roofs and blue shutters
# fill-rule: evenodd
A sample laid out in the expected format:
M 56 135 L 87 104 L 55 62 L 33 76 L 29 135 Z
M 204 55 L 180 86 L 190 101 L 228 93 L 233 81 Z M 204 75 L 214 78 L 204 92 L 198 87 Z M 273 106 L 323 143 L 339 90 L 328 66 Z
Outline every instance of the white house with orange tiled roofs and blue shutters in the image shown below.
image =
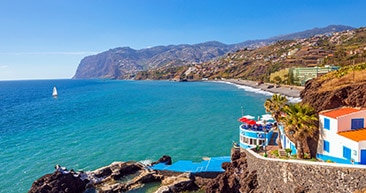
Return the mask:
M 366 165 L 366 109 L 343 107 L 319 113 L 317 158 Z

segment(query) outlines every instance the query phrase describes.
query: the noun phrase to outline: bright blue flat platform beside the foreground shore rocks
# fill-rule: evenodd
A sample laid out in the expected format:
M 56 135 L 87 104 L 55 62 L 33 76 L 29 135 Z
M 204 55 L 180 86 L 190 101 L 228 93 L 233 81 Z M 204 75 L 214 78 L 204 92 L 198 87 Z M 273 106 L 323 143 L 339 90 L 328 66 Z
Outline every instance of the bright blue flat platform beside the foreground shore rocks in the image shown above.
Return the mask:
M 209 160 L 202 162 L 192 162 L 190 160 L 180 160 L 172 165 L 165 165 L 163 163 L 155 164 L 151 167 L 153 170 L 168 170 L 173 172 L 224 172 L 221 168 L 223 162 L 230 162 L 230 156 L 212 157 Z

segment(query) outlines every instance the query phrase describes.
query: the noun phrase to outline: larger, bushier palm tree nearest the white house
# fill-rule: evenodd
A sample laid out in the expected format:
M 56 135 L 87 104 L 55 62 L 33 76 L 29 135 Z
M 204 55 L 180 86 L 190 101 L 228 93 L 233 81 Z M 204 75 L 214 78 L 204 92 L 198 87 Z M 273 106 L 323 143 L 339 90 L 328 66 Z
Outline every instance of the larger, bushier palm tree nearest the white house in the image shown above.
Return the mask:
M 285 132 L 296 141 L 297 158 L 304 158 L 304 143 L 318 130 L 318 115 L 308 104 L 290 104 L 284 108 Z M 307 145 L 307 143 L 306 143 Z

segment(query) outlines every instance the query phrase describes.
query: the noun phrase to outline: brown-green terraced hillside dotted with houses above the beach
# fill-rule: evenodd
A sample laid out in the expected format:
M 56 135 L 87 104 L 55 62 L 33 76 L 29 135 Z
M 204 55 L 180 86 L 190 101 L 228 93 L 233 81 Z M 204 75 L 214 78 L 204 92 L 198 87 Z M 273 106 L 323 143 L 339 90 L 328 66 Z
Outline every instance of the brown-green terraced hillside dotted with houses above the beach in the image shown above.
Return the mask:
M 348 66 L 366 58 L 365 28 L 326 33 L 306 39 L 282 40 L 257 49 L 241 49 L 221 58 L 181 68 L 159 68 L 141 72 L 136 79 L 240 78 L 270 81 L 271 74 L 291 67 Z M 278 83 L 291 84 L 291 76 Z

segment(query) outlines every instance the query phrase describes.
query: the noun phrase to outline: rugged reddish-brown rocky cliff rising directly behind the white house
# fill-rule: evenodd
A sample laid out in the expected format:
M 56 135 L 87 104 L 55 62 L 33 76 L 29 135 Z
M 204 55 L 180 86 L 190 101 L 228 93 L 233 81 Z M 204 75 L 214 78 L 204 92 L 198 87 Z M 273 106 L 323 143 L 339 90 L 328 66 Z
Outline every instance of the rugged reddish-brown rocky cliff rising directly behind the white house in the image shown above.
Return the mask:
M 358 66 L 360 70 L 347 73 L 343 68 L 308 81 L 300 93 L 302 102 L 317 112 L 341 106 L 366 107 L 366 70 L 362 69 L 366 63 Z M 337 78 L 339 75 L 342 76 Z

